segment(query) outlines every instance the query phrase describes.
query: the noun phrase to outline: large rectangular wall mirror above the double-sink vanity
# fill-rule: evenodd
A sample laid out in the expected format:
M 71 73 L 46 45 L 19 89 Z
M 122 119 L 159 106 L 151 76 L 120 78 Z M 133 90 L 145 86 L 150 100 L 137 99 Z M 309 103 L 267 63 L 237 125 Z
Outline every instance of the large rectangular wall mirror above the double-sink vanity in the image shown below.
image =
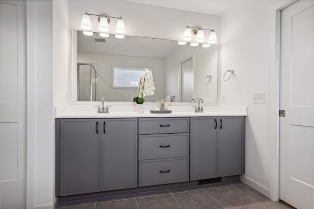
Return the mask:
M 152 70 L 155 94 L 146 101 L 217 102 L 218 46 L 72 30 L 72 101 L 133 101 L 144 69 Z

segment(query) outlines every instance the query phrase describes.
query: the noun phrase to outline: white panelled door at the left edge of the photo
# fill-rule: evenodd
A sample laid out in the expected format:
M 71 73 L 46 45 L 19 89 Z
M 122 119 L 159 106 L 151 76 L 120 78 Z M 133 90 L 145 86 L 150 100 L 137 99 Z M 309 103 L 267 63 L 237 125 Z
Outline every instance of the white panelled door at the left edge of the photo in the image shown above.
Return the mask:
M 26 208 L 25 0 L 0 0 L 0 208 Z

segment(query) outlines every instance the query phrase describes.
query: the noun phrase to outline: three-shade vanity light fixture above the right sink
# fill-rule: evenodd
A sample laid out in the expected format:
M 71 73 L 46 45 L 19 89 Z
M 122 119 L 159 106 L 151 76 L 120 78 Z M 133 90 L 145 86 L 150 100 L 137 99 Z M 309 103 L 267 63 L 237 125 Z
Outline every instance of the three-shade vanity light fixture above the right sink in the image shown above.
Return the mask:
M 208 42 L 205 40 L 205 34 L 204 31 L 210 31 L 209 33 L 209 39 Z M 211 44 L 217 43 L 217 36 L 214 29 L 205 29 L 201 27 L 190 27 L 186 25 L 186 28 L 184 29 L 183 33 L 183 41 L 179 41 L 179 45 L 185 45 L 187 42 L 192 41 L 192 34 L 196 35 L 196 43 L 190 42 L 190 46 L 199 46 L 199 44 L 202 44 L 202 47 L 209 47 Z

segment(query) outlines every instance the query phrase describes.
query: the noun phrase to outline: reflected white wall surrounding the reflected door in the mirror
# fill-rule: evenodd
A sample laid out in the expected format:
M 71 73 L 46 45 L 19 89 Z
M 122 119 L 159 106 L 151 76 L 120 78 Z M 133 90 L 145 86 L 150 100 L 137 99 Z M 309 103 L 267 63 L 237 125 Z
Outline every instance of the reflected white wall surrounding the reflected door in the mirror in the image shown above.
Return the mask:
M 194 98 L 200 97 L 204 102 L 217 102 L 218 82 L 218 46 L 203 48 L 202 46 L 182 46 L 166 57 L 165 93 L 175 95 L 174 102 L 179 102 L 181 64 L 193 58 L 194 68 Z M 212 75 L 207 85 L 204 85 L 206 75 Z

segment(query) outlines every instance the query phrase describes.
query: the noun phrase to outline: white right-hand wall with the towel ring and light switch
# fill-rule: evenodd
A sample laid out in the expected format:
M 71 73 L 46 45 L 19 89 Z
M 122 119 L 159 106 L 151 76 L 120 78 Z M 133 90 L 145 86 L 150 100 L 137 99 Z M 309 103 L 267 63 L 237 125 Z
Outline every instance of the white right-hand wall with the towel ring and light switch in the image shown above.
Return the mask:
M 242 180 L 275 200 L 276 9 L 289 0 L 246 1 L 221 17 L 223 105 L 248 106 L 246 164 Z M 234 76 L 223 81 L 226 70 Z M 265 104 L 252 93 L 265 92 Z

